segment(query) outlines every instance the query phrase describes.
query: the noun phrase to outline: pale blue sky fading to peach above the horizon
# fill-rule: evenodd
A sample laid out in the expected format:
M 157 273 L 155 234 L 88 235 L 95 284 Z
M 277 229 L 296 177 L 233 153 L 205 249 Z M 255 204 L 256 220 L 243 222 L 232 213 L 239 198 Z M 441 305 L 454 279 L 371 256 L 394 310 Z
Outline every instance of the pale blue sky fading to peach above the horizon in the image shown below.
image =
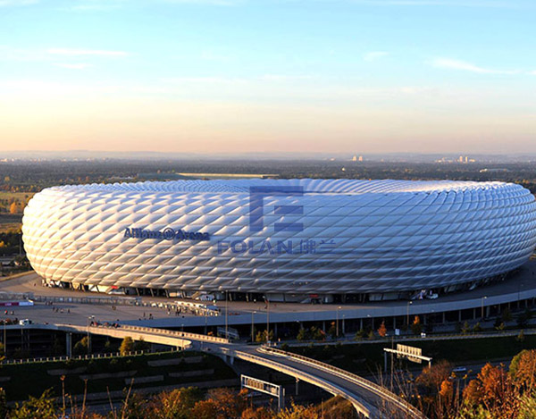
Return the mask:
M 0 0 L 0 150 L 536 152 L 533 0 Z

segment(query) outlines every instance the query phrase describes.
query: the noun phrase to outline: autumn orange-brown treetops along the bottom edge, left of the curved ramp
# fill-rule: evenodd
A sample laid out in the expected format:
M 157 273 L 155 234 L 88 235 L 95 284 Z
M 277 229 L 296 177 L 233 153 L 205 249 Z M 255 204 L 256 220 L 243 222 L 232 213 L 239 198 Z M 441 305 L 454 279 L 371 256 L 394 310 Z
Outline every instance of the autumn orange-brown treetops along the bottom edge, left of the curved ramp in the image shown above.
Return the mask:
M 111 403 L 105 415 L 92 413 L 82 402 L 77 403 L 63 391 L 63 396 L 54 398 L 46 390 L 39 398 L 8 408 L 4 390 L 0 389 L 1 419 L 354 419 L 354 407 L 341 398 L 331 398 L 317 406 L 301 406 L 291 403 L 276 412 L 272 407 L 255 407 L 247 390 L 235 391 L 227 388 L 209 390 L 204 394 L 193 387 L 163 391 L 147 397 L 125 390 L 120 406 Z

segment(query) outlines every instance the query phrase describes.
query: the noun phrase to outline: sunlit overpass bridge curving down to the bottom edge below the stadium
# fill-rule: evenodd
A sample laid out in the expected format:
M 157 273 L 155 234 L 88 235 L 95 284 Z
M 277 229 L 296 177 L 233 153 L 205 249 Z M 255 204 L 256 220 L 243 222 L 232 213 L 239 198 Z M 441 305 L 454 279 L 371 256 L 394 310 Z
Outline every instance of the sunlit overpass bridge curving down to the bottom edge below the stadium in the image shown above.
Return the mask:
M 67 355 L 71 356 L 71 334 L 103 335 L 115 339 L 130 337 L 148 343 L 162 344 L 181 349 L 197 349 L 224 357 L 230 364 L 241 359 L 256 365 L 288 374 L 297 380 L 306 381 L 335 396 L 347 398 L 356 411 L 368 418 L 411 418 L 425 416 L 405 399 L 389 390 L 365 380 L 354 373 L 324 364 L 306 356 L 299 356 L 277 348 L 256 347 L 232 343 L 229 339 L 217 338 L 185 331 L 168 331 L 129 325 L 72 325 L 72 324 L 26 324 L 8 325 L 6 329 L 39 329 L 64 331 L 67 339 Z

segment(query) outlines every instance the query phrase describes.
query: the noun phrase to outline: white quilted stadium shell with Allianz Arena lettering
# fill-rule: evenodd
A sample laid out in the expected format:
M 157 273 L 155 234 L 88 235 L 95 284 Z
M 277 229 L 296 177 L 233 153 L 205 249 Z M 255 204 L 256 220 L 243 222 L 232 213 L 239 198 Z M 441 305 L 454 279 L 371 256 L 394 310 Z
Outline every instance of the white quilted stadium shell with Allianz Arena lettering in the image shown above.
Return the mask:
M 47 282 L 168 296 L 396 299 L 504 278 L 536 246 L 511 183 L 177 180 L 44 189 L 23 241 Z

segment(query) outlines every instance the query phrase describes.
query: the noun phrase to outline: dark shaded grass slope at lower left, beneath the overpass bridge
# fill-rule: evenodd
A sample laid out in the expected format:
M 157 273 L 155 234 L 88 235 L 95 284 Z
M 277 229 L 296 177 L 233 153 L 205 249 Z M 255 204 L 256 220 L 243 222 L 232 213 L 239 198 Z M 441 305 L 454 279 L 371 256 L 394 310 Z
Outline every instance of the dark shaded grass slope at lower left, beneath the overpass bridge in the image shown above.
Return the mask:
M 148 361 L 171 358 L 185 358 L 189 356 L 201 356 L 200 363 L 180 365 L 150 366 Z M 134 378 L 134 388 L 144 386 L 178 385 L 192 381 L 214 381 L 236 378 L 236 374 L 217 356 L 206 355 L 197 352 L 169 352 L 163 354 L 148 354 L 139 356 L 121 356 L 116 358 L 93 359 L 93 360 L 69 360 L 65 362 L 40 362 L 22 365 L 2 365 L 0 377 L 11 377 L 9 381 L 0 382 L 4 387 L 8 400 L 21 400 L 29 396 L 40 396 L 46 389 L 54 389 L 54 395 L 62 394 L 61 375 L 51 375 L 51 370 L 65 369 L 65 391 L 70 394 L 82 394 L 84 381 L 80 374 L 91 373 L 121 373 L 131 372 Z M 83 372 L 80 372 L 83 369 Z M 214 369 L 214 374 L 200 375 L 195 377 L 173 378 L 169 373 Z M 72 373 L 69 373 L 69 372 Z M 163 375 L 163 381 L 136 384 L 136 378 Z M 31 385 L 29 385 L 31 377 Z M 127 388 L 125 377 L 104 378 L 88 380 L 88 392 L 101 392 L 123 390 Z

